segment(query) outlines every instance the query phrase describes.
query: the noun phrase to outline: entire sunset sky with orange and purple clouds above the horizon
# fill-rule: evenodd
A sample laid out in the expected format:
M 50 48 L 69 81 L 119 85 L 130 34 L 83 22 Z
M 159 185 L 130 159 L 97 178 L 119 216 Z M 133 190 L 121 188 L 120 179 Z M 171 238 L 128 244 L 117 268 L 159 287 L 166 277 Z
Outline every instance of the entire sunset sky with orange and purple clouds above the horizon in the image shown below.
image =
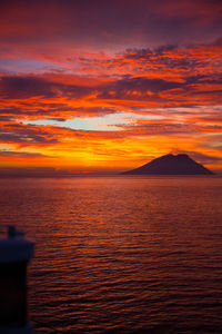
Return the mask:
M 1 0 L 0 167 L 222 173 L 221 0 Z

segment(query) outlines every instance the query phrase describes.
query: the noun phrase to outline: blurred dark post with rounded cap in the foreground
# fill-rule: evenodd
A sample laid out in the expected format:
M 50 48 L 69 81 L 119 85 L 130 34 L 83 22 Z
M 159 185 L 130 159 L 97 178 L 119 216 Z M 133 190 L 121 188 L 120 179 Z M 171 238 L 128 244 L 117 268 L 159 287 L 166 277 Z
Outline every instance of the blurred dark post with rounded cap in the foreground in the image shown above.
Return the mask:
M 0 333 L 31 334 L 28 321 L 27 265 L 33 256 L 33 243 L 14 226 L 0 238 Z

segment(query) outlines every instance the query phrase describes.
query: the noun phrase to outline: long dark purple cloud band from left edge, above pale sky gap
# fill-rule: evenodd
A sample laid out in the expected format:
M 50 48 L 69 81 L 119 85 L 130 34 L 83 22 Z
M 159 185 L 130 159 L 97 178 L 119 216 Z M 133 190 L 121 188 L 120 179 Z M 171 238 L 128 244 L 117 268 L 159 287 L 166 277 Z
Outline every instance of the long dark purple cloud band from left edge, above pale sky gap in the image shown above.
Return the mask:
M 110 91 L 114 92 L 115 98 L 123 98 L 127 96 L 130 98 L 129 94 L 133 91 L 142 94 L 148 90 L 160 92 L 163 90 L 181 88 L 183 86 L 181 82 L 165 81 L 162 79 L 147 79 L 142 77 L 123 78 L 117 80 L 114 84 L 104 84 L 103 86 L 100 85 L 95 88 L 49 82 L 38 77 L 2 77 L 0 82 L 1 96 L 10 99 L 27 99 L 38 96 L 43 98 L 67 96 L 72 99 L 88 96 L 93 91 L 97 91 L 100 98 L 112 98 Z M 65 109 L 68 109 L 68 107 L 65 107 Z M 39 109 L 38 112 L 41 112 L 41 109 Z

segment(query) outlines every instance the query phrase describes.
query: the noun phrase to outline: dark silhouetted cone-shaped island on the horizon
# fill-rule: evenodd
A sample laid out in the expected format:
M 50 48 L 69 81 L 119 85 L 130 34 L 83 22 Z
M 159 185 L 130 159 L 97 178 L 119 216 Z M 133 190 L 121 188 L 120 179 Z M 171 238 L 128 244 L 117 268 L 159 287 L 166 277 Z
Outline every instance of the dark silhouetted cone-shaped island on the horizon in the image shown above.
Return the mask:
M 128 175 L 213 175 L 214 173 L 194 161 L 185 154 L 165 155 L 122 174 Z

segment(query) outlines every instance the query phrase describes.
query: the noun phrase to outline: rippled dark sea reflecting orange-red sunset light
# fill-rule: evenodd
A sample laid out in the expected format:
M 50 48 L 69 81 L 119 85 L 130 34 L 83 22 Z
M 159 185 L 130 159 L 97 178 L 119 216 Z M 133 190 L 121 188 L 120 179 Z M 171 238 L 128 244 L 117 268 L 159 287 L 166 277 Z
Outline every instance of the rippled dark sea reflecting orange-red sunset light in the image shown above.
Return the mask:
M 0 179 L 38 333 L 222 333 L 222 178 Z

